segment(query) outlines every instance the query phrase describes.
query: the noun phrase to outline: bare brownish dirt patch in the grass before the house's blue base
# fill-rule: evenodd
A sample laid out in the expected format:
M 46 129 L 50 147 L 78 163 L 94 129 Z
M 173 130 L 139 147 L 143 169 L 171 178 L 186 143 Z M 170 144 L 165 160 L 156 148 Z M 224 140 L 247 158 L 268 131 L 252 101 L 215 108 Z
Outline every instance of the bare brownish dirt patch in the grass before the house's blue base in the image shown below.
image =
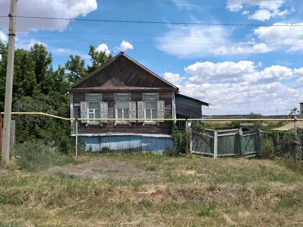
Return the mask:
M 95 158 L 94 161 L 78 165 L 55 166 L 41 173 L 46 176 L 51 176 L 58 172 L 80 177 L 92 177 L 94 179 L 109 177 L 115 179 L 148 179 L 158 176 L 158 173 L 155 171 L 138 169 L 136 166 L 105 157 Z

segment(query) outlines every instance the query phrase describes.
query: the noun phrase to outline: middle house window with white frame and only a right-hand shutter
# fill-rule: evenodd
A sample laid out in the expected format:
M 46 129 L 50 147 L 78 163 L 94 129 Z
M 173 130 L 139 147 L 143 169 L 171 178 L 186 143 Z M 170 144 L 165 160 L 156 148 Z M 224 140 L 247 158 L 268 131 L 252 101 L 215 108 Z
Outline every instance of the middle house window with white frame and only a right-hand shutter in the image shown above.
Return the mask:
M 115 118 L 134 120 L 115 120 L 117 124 L 129 124 L 136 122 L 136 102 L 131 101 L 130 93 L 115 93 Z

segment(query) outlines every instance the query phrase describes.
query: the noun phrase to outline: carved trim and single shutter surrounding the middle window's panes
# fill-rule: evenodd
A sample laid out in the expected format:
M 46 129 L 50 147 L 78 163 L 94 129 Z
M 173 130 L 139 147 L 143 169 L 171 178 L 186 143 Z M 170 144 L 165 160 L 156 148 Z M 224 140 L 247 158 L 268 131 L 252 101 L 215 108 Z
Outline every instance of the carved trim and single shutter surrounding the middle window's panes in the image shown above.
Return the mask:
M 117 124 L 129 124 L 131 126 L 131 123 L 136 122 L 136 102 L 131 101 L 131 94 L 130 93 L 115 93 L 115 119 L 118 119 L 118 105 L 117 102 L 127 102 L 128 103 L 128 119 L 134 119 L 134 120 L 115 120 L 115 126 Z M 119 108 L 121 109 L 121 108 Z M 127 108 L 123 108 L 127 109 Z M 124 111 L 123 111 L 124 112 Z M 122 115 L 123 116 L 123 115 Z M 123 116 L 124 118 L 124 116 Z

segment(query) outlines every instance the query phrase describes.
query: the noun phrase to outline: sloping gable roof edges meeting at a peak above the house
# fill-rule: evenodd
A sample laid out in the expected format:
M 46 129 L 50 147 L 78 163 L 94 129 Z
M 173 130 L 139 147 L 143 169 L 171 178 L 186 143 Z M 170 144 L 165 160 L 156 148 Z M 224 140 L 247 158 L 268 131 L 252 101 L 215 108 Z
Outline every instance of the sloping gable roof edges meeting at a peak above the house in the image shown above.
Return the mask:
M 102 66 L 100 66 L 99 68 L 97 68 L 95 71 L 91 72 L 90 74 L 88 74 L 87 76 L 83 77 L 82 79 L 80 79 L 78 82 L 76 82 L 75 84 L 73 84 L 72 86 L 68 87 L 67 90 L 72 90 L 74 87 L 76 87 L 77 85 L 81 84 L 83 81 L 87 80 L 88 78 L 94 76 L 96 73 L 102 71 L 103 69 L 105 69 L 106 67 L 108 67 L 111 63 L 113 63 L 114 61 L 117 60 L 117 58 L 119 58 L 120 56 L 124 56 L 125 58 L 127 58 L 129 61 L 135 63 L 138 67 L 142 68 L 143 70 L 147 71 L 148 73 L 150 73 L 151 75 L 153 75 L 154 77 L 158 78 L 159 80 L 163 81 L 165 84 L 168 85 L 168 87 L 170 88 L 175 88 L 177 90 L 179 90 L 178 87 L 176 87 L 175 85 L 169 83 L 168 81 L 166 81 L 165 79 L 163 79 L 162 77 L 158 76 L 157 74 L 155 74 L 154 72 L 150 71 L 148 68 L 144 67 L 142 64 L 138 63 L 137 61 L 135 61 L 134 59 L 132 59 L 131 57 L 129 57 L 128 55 L 124 54 L 124 52 L 120 52 L 119 54 L 117 54 L 114 58 L 112 58 L 111 60 L 109 60 L 108 62 L 106 62 L 105 64 L 103 64 Z

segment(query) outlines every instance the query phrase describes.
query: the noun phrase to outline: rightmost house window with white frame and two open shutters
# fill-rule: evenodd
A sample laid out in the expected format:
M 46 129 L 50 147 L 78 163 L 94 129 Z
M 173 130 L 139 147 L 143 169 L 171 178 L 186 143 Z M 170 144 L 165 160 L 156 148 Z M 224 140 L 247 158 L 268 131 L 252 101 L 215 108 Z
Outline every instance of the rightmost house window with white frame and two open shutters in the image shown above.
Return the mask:
M 153 119 L 164 119 L 164 101 L 159 100 L 159 93 L 143 93 L 143 101 L 138 101 L 138 122 L 144 124 L 158 124 L 163 122 L 162 120 Z

